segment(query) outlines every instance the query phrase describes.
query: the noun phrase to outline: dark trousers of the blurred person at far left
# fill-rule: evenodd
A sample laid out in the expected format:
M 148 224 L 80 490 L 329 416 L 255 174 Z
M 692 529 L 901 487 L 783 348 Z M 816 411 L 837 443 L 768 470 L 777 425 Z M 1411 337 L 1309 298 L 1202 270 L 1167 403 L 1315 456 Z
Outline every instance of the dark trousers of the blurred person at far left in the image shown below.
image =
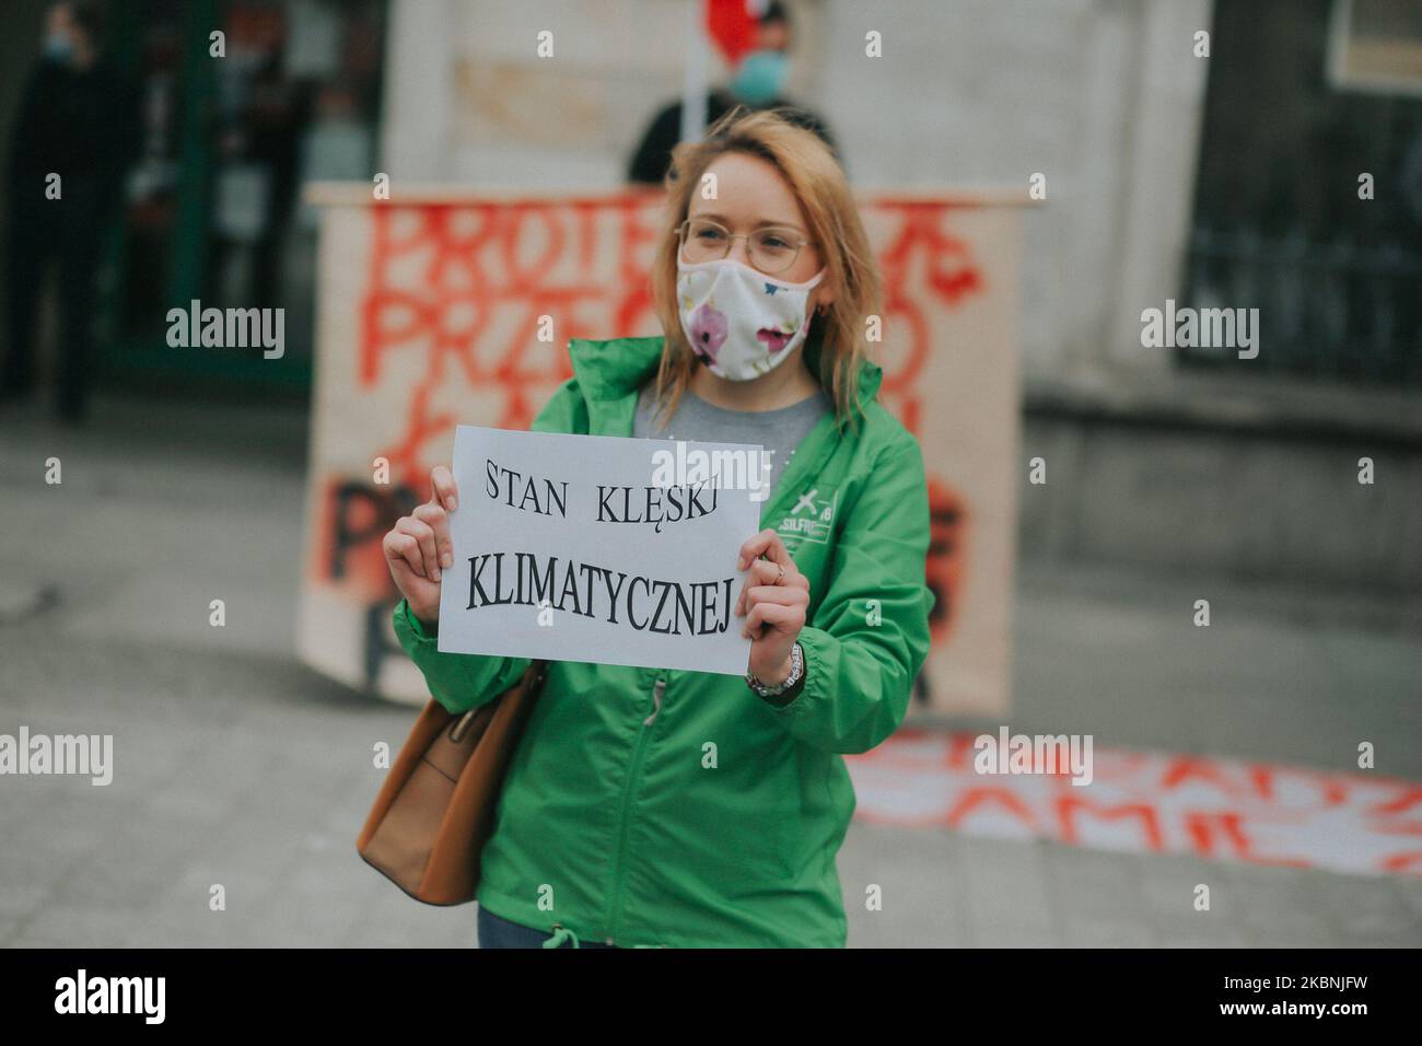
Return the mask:
M 94 366 L 97 279 L 112 218 L 112 192 L 98 179 L 70 175 L 60 199 L 44 198 L 44 175 L 10 186 L 10 316 L 0 389 L 34 387 L 34 334 L 44 275 L 60 275 L 58 404 L 80 411 L 88 400 Z M 33 182 L 33 184 L 31 184 Z

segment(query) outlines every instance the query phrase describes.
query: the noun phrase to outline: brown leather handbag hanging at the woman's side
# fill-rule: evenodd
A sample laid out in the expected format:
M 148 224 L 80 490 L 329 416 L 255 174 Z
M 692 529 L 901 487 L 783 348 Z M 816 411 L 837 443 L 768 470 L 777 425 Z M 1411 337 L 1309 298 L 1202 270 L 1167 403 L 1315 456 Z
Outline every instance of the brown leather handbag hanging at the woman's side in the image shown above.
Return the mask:
M 429 700 L 356 840 L 367 864 L 417 901 L 474 899 L 503 774 L 546 675 L 535 660 L 516 686 L 461 714 Z

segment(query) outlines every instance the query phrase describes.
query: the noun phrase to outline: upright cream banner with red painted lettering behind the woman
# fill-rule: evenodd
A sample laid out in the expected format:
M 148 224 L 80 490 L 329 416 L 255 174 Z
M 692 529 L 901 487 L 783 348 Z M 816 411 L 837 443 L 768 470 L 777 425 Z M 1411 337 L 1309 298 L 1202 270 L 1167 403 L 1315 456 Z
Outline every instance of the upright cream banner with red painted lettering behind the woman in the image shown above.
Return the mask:
M 916 709 L 1008 707 L 1018 444 L 1020 196 L 875 195 L 882 398 L 929 470 L 937 593 Z M 381 535 L 428 497 L 456 424 L 526 428 L 572 374 L 567 343 L 660 333 L 647 273 L 660 194 L 474 195 L 319 185 L 316 389 L 297 649 L 410 702 Z

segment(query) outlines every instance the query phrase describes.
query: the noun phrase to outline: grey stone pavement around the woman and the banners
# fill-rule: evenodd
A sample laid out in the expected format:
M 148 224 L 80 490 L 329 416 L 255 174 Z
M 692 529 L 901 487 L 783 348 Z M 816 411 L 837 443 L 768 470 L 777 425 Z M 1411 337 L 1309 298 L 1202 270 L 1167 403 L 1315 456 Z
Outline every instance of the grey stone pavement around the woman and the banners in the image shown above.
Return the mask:
M 107 787 L 0 777 L 0 945 L 474 945 L 472 905 L 415 904 L 354 852 L 371 746 L 412 710 L 292 653 L 303 426 L 118 398 L 80 431 L 0 414 L 0 733 L 115 739 Z M 1422 780 L 1415 606 L 1031 561 L 1018 589 L 1014 729 L 1335 770 L 1368 736 Z M 1236 620 L 1202 657 L 1177 629 L 1206 591 Z M 839 868 L 852 946 L 1422 945 L 1419 878 L 859 823 Z

